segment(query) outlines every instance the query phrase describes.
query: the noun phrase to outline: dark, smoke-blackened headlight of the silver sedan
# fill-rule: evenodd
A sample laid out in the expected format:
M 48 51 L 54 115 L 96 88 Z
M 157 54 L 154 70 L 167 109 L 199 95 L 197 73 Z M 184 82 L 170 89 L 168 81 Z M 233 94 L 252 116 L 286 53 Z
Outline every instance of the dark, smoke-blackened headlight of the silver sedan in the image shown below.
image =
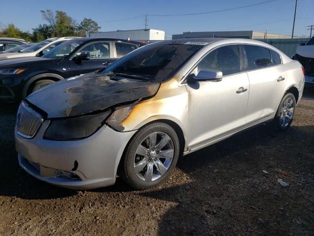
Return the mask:
M 75 118 L 51 119 L 44 138 L 54 140 L 78 140 L 91 136 L 105 123 L 111 111 Z

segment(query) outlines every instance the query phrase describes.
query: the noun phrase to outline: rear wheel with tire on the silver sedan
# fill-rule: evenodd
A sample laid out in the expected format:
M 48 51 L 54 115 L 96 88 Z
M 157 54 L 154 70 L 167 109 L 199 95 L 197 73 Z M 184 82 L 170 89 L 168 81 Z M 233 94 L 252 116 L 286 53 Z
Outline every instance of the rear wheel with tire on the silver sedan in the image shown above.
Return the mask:
M 274 118 L 274 125 L 279 131 L 285 131 L 290 127 L 293 120 L 295 105 L 296 101 L 292 93 L 287 93 L 281 100 Z

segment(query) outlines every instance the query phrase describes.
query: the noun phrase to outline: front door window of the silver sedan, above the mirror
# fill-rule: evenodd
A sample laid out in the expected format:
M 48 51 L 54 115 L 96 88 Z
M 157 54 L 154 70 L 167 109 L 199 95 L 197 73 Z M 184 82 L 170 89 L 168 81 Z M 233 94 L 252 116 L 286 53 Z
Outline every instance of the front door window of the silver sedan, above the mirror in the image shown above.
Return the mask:
M 192 73 L 197 75 L 199 71 L 204 69 L 220 70 L 223 76 L 241 72 L 238 45 L 215 49 L 199 62 Z

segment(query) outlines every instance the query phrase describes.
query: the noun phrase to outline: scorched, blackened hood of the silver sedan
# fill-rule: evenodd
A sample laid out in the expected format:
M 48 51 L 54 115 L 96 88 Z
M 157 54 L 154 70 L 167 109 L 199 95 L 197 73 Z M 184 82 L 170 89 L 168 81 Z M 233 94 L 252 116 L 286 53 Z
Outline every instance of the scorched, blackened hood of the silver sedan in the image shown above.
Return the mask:
M 74 117 L 154 96 L 160 83 L 88 73 L 35 91 L 26 100 L 47 118 Z

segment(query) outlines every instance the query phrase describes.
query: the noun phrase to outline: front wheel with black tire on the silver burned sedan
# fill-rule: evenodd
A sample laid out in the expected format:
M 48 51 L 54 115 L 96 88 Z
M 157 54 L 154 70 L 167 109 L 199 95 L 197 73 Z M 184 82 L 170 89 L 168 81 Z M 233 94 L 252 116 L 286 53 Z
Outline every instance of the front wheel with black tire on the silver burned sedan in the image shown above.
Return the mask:
M 125 151 L 122 178 L 135 189 L 155 187 L 173 172 L 179 153 L 179 138 L 170 125 L 148 124 L 132 137 Z

